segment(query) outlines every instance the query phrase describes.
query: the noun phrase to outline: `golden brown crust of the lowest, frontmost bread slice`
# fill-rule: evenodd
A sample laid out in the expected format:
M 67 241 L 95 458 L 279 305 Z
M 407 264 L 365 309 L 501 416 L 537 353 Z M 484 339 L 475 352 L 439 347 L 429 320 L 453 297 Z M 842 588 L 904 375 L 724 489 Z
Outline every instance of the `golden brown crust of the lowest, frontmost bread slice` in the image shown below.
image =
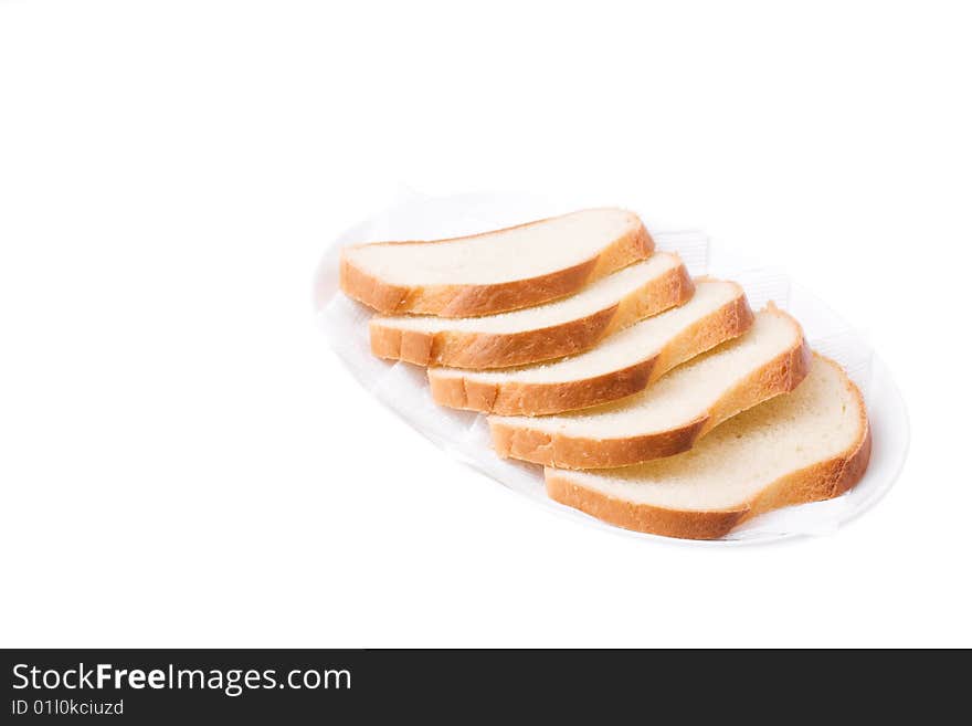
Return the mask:
M 635 504 L 580 486 L 570 481 L 569 472 L 556 469 L 545 470 L 547 493 L 561 504 L 619 527 L 683 539 L 717 539 L 759 514 L 834 498 L 862 480 L 870 461 L 871 432 L 864 399 L 849 379 L 846 383 L 858 401 L 857 441 L 838 456 L 781 476 L 739 507 L 699 512 Z

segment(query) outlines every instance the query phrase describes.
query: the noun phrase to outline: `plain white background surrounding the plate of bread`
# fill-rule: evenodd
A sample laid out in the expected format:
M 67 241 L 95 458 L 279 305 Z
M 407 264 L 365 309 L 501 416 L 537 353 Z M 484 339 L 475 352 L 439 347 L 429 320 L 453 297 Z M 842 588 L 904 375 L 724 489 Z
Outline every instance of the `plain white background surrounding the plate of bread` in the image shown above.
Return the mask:
M 0 1 L 0 644 L 972 645 L 968 13 Z M 783 267 L 897 377 L 897 486 L 715 550 L 453 462 L 311 319 L 324 246 L 403 187 Z

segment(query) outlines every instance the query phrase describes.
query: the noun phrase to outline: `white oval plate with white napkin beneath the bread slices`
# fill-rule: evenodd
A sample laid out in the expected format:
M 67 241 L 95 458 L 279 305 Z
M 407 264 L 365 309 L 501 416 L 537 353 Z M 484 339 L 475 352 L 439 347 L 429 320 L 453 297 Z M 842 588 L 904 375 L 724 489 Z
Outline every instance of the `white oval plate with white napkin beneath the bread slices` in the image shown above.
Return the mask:
M 485 417 L 436 406 L 429 392 L 424 369 L 379 360 L 371 355 L 367 325 L 371 311 L 345 297 L 338 287 L 338 259 L 342 246 L 468 234 L 561 214 L 582 206 L 520 193 L 442 198 L 412 194 L 382 214 L 349 229 L 327 249 L 314 280 L 314 306 L 320 327 L 351 375 L 446 453 L 542 506 L 590 526 L 640 539 L 725 546 L 827 534 L 874 506 L 900 473 L 910 438 L 905 402 L 887 366 L 823 301 L 791 283 L 784 274 L 747 265 L 729 250 L 718 248 L 718 254 L 709 255 L 707 240 L 699 232 L 659 232 L 649 225 L 658 248 L 679 252 L 694 275 L 712 274 L 739 281 L 753 309 L 773 299 L 790 311 L 803 325 L 811 345 L 841 362 L 864 392 L 874 445 L 867 473 L 847 494 L 754 517 L 714 541 L 673 540 L 613 527 L 549 499 L 541 466 L 497 457 L 489 445 Z M 643 215 L 642 219 L 651 218 Z M 710 259 L 715 259 L 711 266 Z

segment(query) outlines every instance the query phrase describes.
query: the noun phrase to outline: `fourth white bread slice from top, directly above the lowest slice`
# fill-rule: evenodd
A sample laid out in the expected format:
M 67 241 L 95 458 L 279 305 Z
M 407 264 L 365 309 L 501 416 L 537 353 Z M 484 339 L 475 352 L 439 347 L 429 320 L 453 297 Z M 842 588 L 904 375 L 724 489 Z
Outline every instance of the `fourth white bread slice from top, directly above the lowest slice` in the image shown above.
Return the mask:
M 635 396 L 546 417 L 489 417 L 500 456 L 561 469 L 672 456 L 740 411 L 793 390 L 810 369 L 800 324 L 770 304 L 743 335 L 693 358 Z

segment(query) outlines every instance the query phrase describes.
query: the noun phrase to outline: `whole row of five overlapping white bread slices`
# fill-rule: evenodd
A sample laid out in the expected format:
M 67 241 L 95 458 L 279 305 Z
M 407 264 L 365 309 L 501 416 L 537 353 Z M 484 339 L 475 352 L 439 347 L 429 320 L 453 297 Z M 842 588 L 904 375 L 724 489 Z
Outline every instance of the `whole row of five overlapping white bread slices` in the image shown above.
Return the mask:
M 466 238 L 347 248 L 374 355 L 488 414 L 496 453 L 604 522 L 712 539 L 864 475 L 864 400 L 800 324 L 691 280 L 636 214 L 592 209 Z

